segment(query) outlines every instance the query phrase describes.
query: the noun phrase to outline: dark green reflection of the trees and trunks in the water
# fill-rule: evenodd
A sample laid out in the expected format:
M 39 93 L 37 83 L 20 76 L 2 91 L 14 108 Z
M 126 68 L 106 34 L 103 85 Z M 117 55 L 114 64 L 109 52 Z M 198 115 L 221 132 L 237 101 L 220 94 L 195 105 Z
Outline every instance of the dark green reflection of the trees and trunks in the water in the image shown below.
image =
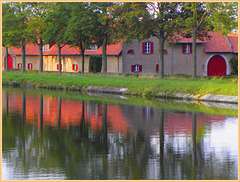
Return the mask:
M 26 113 L 25 100 L 23 94 L 22 115 L 9 113 L 7 116 L 3 113 L 3 158 L 13 165 L 15 171 L 22 170 L 25 174 L 44 171 L 51 176 L 59 176 L 58 169 L 61 169 L 66 179 L 152 179 L 151 171 L 156 169 L 156 179 L 231 179 L 232 170 L 236 170 L 233 168 L 236 161 L 228 155 L 224 158 L 224 165 L 216 160 L 215 151 L 205 155 L 204 140 L 199 138 L 196 130 L 197 114 L 192 114 L 192 135 L 185 136 L 182 144 L 176 144 L 174 139 L 178 136 L 164 135 L 164 126 L 167 125 L 164 119 L 170 111 L 154 109 L 154 117 L 157 116 L 158 120 L 149 123 L 139 121 L 146 128 L 150 124 L 158 126 L 155 134 L 159 145 L 153 146 L 151 138 L 154 136 L 147 135 L 149 131 L 146 132 L 144 127 L 137 128 L 138 121 L 136 128 L 132 129 L 135 132 L 112 131 L 107 120 L 107 103 L 98 103 L 98 109 L 102 108 L 103 125 L 97 131 L 91 128 L 85 117 L 88 101 L 81 101 L 82 116 L 78 126 L 42 126 L 39 131 L 34 124 L 26 124 L 30 122 L 22 120 Z M 39 100 L 39 112 L 43 114 L 42 95 Z M 61 102 L 59 98 L 58 114 L 61 113 Z M 128 112 L 130 114 L 131 111 Z M 60 126 L 64 121 L 60 120 L 61 117 L 58 119 Z M 176 145 L 182 145 L 181 150 Z M 18 152 L 12 152 L 13 148 Z

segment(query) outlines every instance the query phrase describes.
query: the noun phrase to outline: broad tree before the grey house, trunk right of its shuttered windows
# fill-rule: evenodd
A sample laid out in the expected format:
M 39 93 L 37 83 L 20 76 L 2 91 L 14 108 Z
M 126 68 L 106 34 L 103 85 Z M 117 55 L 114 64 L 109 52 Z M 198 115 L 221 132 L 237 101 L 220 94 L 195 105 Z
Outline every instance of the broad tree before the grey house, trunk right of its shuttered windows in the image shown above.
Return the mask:
M 159 40 L 159 77 L 164 78 L 164 43 L 175 35 L 183 24 L 182 3 L 124 3 L 119 6 L 127 40 L 139 41 L 156 37 Z

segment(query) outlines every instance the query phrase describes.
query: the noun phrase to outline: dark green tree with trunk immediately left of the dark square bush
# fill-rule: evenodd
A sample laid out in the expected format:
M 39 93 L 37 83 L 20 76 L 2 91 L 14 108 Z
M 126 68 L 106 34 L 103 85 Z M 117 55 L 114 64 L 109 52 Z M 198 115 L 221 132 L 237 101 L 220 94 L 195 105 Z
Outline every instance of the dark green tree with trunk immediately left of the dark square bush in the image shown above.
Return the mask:
M 90 3 L 69 3 L 71 6 L 70 20 L 65 32 L 65 38 L 71 47 L 76 47 L 82 55 L 82 73 L 84 73 L 84 53 L 92 43 L 94 21 L 96 14 L 91 10 Z

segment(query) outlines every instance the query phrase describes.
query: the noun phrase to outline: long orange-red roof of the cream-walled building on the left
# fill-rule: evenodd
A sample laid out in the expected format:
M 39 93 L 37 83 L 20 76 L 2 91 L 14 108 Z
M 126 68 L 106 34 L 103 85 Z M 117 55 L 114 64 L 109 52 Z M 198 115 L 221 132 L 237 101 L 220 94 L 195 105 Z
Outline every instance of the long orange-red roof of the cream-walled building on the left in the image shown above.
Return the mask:
M 38 45 L 27 44 L 26 55 L 39 55 Z M 107 55 L 119 55 L 122 51 L 122 42 L 107 46 Z M 15 55 L 21 54 L 21 49 L 16 48 L 13 52 Z M 62 55 L 80 55 L 77 48 L 66 45 L 61 50 Z M 102 46 L 98 50 L 86 50 L 85 55 L 102 55 Z M 58 55 L 57 46 L 52 46 L 49 51 L 43 51 L 43 55 Z

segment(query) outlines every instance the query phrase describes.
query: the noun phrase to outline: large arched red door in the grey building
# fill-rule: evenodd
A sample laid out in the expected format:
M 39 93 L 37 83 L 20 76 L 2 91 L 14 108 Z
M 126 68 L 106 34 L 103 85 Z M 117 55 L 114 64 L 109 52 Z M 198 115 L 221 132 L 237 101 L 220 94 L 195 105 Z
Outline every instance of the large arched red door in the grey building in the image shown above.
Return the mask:
M 213 56 L 207 65 L 208 76 L 226 76 L 226 62 L 222 56 Z

